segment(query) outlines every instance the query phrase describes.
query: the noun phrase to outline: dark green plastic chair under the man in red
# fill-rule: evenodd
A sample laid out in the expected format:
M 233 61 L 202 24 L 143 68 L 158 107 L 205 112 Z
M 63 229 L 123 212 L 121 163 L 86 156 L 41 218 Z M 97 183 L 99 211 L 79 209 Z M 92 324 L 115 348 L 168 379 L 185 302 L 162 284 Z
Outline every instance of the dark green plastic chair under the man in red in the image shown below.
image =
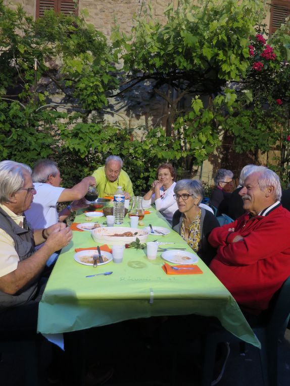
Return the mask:
M 290 317 L 290 276 L 274 295 L 269 318 L 253 328 L 261 342 L 260 362 L 265 386 L 277 386 L 278 340 L 282 339 Z M 220 342 L 242 342 L 227 330 L 209 332 L 205 342 L 203 386 L 210 386 L 213 378 L 215 354 Z

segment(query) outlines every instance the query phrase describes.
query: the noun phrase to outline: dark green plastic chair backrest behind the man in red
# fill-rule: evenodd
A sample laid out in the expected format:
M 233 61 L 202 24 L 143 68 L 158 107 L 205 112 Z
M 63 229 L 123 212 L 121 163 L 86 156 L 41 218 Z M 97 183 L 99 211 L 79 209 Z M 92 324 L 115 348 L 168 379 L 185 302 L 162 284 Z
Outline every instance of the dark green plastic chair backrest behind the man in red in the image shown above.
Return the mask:
M 276 301 L 273 305 L 267 329 L 269 334 L 284 335 L 290 318 L 290 276 L 275 295 Z

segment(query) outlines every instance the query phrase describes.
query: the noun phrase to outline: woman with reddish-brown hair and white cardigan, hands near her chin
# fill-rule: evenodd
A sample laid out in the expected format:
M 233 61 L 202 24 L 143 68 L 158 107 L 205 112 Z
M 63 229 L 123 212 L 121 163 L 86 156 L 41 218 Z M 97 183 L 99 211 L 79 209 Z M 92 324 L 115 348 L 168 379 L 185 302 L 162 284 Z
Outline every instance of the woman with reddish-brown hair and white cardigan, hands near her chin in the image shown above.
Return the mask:
M 155 203 L 156 210 L 164 215 L 172 224 L 173 213 L 178 209 L 173 198 L 175 171 L 171 163 L 162 163 L 157 169 L 157 180 L 152 183 L 151 189 L 143 197 L 143 207 Z

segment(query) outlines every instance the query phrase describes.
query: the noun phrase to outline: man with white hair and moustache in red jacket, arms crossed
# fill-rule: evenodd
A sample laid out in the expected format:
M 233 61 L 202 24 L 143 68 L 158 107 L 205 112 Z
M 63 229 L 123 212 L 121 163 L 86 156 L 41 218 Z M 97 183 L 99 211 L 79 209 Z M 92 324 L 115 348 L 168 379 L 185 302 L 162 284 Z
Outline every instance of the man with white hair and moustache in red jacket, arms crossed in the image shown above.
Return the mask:
M 211 232 L 210 268 L 244 311 L 259 315 L 290 275 L 290 212 L 279 177 L 265 167 L 251 171 L 239 194 L 246 213 Z

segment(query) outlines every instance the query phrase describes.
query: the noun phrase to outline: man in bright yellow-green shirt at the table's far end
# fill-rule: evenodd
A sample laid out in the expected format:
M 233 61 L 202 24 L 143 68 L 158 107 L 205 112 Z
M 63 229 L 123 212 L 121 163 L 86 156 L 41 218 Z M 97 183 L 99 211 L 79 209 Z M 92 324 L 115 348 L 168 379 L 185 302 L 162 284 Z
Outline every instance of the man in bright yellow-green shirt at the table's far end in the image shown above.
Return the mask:
M 110 155 L 105 161 L 105 166 L 93 172 L 92 177 L 95 178 L 99 197 L 114 196 L 118 186 L 122 187 L 126 200 L 133 196 L 132 182 L 122 167 L 123 160 L 117 155 Z

